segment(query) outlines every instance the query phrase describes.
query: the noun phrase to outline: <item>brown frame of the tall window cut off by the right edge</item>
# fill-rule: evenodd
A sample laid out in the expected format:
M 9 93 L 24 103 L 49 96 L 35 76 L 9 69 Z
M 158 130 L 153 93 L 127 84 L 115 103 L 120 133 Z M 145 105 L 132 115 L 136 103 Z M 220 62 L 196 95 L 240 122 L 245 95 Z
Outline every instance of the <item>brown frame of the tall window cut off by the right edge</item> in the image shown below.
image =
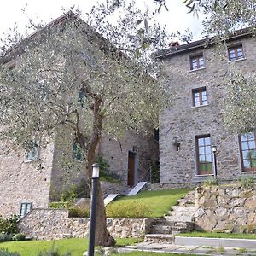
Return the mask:
M 253 140 L 248 139 L 248 137 L 246 140 L 243 140 L 242 137 L 246 137 L 247 134 L 253 134 L 253 137 L 254 137 Z M 250 143 L 253 141 L 254 141 L 254 148 L 252 148 L 252 143 Z M 255 132 L 247 132 L 245 134 L 240 134 L 238 136 L 238 142 L 239 142 L 239 152 L 240 152 L 240 160 L 241 160 L 241 171 L 242 172 L 256 172 L 256 166 L 255 167 L 253 167 L 253 166 L 245 167 L 245 165 L 244 165 L 245 158 L 243 157 L 243 151 L 255 152 L 255 150 L 256 150 L 256 133 Z M 244 146 L 243 146 L 244 144 L 247 145 L 247 148 L 244 148 Z M 250 157 L 250 160 L 249 160 L 250 165 L 252 165 L 252 163 L 251 163 L 252 159 L 256 160 L 254 158 L 254 156 Z

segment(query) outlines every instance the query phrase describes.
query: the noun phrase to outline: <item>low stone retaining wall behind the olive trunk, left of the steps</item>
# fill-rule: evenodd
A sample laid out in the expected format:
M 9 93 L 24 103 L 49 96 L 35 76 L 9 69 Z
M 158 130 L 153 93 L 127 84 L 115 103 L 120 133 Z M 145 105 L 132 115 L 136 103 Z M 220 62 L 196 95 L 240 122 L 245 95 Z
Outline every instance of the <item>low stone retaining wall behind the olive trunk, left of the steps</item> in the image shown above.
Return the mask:
M 147 218 L 108 218 L 107 227 L 114 237 L 139 237 L 151 220 Z M 68 211 L 34 208 L 19 221 L 20 232 L 38 240 L 85 237 L 89 232 L 89 218 L 68 218 Z

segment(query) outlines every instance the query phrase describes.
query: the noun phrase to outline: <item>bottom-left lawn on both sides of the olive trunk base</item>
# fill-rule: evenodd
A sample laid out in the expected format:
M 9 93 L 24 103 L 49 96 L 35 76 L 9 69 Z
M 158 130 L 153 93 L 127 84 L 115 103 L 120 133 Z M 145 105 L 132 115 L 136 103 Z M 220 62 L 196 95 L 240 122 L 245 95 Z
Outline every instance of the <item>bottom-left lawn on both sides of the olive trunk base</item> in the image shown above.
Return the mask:
M 142 238 L 117 238 L 117 247 L 131 245 L 142 241 Z M 8 248 L 9 252 L 20 253 L 21 256 L 37 256 L 40 251 L 49 250 L 52 247 L 59 249 L 61 253 L 72 253 L 72 256 L 81 256 L 88 247 L 88 239 L 71 238 L 55 241 L 6 241 L 0 242 L 1 248 Z

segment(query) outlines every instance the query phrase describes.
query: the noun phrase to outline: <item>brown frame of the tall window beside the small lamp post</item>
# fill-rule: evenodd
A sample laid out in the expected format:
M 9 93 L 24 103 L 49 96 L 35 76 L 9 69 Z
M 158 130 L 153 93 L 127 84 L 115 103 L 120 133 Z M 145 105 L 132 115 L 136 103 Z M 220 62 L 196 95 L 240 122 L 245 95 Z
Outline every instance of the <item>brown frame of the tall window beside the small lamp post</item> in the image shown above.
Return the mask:
M 199 139 L 201 138 L 210 138 L 210 143 L 204 146 L 199 146 Z M 210 147 L 211 152 L 209 154 L 200 154 L 200 147 L 204 148 L 204 152 L 206 147 Z M 206 159 L 206 155 L 211 155 L 211 163 L 212 163 L 212 172 L 211 173 L 201 173 L 200 172 L 200 155 L 204 155 L 205 159 Z M 209 133 L 207 134 L 203 134 L 203 135 L 197 135 L 195 136 L 195 163 L 196 163 L 196 175 L 197 176 L 212 176 L 213 175 L 213 159 L 212 159 L 212 137 Z

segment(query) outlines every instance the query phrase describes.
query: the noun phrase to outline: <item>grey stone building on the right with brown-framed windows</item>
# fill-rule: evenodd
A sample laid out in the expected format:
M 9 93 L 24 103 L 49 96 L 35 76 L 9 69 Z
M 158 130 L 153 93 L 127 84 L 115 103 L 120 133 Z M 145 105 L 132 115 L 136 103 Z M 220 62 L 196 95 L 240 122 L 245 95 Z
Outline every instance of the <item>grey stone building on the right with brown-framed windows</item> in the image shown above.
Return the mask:
M 255 134 L 224 128 L 226 75 L 231 66 L 255 72 L 255 43 L 244 29 L 222 46 L 202 39 L 156 55 L 173 95 L 172 108 L 160 115 L 160 183 L 199 183 L 214 174 L 221 181 L 256 177 Z

